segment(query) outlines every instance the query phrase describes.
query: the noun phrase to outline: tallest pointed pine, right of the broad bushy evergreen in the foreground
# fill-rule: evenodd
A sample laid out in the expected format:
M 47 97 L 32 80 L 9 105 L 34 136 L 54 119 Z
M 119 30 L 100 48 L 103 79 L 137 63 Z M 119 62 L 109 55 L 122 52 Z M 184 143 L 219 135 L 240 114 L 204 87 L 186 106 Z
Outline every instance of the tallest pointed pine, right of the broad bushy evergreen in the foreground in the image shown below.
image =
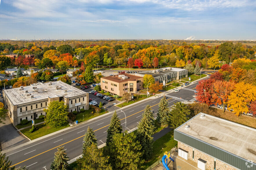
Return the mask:
M 152 156 L 152 149 L 153 149 L 153 138 L 151 137 L 152 134 L 155 132 L 155 123 L 154 117 L 152 114 L 152 109 L 150 105 L 147 105 L 144 113 L 142 114 L 141 121 L 137 125 L 138 130 L 136 134 L 136 139 L 142 146 L 142 151 L 144 151 L 143 158 L 148 160 Z

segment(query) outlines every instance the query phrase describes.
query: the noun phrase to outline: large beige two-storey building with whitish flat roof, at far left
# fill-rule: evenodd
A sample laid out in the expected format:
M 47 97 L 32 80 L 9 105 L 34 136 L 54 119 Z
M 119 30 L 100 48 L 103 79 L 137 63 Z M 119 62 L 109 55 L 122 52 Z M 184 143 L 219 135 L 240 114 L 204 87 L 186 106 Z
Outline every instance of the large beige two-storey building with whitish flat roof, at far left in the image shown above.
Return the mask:
M 44 109 L 51 101 L 64 101 L 72 112 L 82 108 L 88 110 L 88 99 L 86 92 L 61 81 L 3 90 L 3 104 L 14 126 L 23 119 L 30 121 L 46 115 Z

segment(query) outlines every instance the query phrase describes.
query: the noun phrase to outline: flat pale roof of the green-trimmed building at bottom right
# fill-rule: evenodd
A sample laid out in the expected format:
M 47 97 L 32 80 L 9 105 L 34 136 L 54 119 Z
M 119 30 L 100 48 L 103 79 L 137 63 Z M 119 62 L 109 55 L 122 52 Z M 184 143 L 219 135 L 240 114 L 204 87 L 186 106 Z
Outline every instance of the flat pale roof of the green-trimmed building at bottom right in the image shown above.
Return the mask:
M 199 113 L 176 130 L 187 136 L 256 162 L 256 129 Z M 248 118 L 250 119 L 250 118 Z M 189 128 L 186 129 L 185 126 Z M 182 141 L 181 141 L 182 142 Z

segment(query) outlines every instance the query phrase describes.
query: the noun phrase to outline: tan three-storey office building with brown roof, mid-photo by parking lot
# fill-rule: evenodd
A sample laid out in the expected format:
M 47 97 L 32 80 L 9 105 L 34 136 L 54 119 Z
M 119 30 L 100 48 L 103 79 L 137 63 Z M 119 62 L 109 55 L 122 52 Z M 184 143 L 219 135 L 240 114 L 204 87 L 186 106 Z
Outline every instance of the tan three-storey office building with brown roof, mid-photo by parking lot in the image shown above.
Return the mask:
M 143 89 L 143 77 L 131 74 L 101 77 L 101 89 L 111 95 L 123 96 L 127 92 Z

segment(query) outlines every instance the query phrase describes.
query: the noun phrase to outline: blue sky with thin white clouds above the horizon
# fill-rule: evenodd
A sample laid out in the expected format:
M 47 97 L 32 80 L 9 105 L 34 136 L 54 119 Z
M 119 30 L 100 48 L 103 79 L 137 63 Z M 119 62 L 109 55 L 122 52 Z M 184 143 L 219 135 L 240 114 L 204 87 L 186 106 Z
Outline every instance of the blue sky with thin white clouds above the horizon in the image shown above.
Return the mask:
M 0 40 L 256 39 L 255 0 L 0 1 Z

